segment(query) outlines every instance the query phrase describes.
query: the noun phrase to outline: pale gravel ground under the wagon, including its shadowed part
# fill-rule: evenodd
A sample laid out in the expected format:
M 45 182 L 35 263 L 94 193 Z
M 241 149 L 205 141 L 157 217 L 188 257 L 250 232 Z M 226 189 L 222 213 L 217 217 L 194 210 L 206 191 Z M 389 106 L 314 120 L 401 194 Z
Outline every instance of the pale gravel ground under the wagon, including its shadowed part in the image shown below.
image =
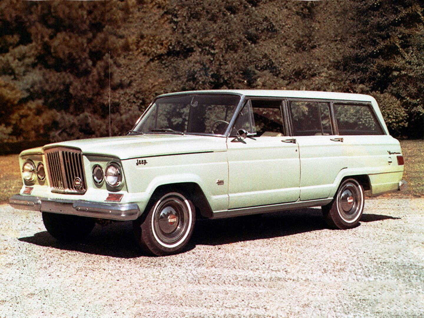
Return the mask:
M 139 253 L 131 223 L 65 245 L 40 213 L 0 206 L 0 317 L 424 317 L 424 198 L 198 220 L 182 254 Z

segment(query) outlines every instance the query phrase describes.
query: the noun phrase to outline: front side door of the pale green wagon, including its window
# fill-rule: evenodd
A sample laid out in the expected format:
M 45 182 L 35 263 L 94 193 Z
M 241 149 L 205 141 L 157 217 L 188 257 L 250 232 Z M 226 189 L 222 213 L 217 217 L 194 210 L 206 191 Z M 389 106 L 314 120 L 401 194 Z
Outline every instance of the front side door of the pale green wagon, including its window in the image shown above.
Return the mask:
M 281 100 L 246 103 L 234 131 L 243 128 L 248 137 L 227 141 L 230 210 L 298 200 L 299 149 L 283 123 Z

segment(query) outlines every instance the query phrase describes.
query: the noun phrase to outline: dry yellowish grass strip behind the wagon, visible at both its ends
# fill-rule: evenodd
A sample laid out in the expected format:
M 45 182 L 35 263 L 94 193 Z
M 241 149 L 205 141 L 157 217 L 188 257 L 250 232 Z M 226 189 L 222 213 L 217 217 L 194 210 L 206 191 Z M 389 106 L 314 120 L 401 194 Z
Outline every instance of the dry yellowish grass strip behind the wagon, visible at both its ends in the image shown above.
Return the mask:
M 402 140 L 405 159 L 403 179 L 408 181 L 406 192 L 392 195 L 424 196 L 424 140 Z M 22 187 L 18 155 L 0 156 L 0 203 L 18 193 Z

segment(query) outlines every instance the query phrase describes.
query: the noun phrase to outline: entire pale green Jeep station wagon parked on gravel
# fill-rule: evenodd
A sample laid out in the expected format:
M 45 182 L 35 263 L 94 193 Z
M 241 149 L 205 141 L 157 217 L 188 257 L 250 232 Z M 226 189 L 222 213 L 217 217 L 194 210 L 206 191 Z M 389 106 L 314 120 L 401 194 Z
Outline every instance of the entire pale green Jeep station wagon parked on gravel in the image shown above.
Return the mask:
M 174 254 L 196 217 L 321 206 L 329 227 L 359 224 L 364 191 L 399 190 L 404 160 L 371 96 L 221 90 L 157 97 L 123 137 L 74 140 L 20 154 L 10 199 L 42 212 L 60 241 L 96 221 L 132 220 L 139 245 Z

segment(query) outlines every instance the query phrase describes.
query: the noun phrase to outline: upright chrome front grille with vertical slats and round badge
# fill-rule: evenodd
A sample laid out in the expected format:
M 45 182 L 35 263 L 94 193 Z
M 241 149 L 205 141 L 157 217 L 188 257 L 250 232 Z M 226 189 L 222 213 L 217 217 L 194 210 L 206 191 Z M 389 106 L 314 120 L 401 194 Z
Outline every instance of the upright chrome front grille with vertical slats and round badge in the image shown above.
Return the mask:
M 81 150 L 56 147 L 46 149 L 45 155 L 52 192 L 79 194 L 86 192 Z

